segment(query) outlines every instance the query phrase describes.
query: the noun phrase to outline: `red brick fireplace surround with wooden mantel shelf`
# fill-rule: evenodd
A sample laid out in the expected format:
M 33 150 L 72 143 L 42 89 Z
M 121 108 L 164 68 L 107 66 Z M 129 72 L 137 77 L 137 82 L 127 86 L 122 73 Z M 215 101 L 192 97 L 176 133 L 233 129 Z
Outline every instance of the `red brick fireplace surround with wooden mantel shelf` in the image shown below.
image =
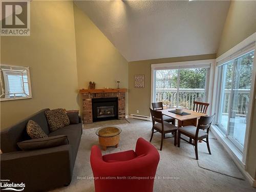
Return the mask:
M 126 89 L 95 89 L 80 90 L 82 94 L 82 119 L 83 123 L 93 123 L 92 99 L 93 98 L 118 98 L 118 119 L 125 119 L 125 92 Z

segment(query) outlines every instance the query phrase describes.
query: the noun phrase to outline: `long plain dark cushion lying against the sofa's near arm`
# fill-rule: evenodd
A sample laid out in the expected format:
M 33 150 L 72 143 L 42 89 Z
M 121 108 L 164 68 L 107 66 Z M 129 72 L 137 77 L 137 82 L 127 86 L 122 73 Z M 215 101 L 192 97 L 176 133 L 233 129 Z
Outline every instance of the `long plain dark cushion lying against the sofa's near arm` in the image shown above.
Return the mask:
M 22 142 L 18 142 L 18 147 L 23 151 L 39 150 L 40 148 L 49 148 L 59 145 L 69 144 L 68 137 L 66 135 L 58 135 L 54 137 L 30 139 Z

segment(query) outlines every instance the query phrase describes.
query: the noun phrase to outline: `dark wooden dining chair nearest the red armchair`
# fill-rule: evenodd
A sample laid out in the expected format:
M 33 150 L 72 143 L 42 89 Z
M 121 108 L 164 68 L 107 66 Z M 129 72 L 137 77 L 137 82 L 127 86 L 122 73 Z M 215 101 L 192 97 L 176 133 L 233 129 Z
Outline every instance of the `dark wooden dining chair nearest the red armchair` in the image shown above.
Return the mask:
M 154 111 L 150 109 L 151 117 L 152 117 L 152 134 L 150 138 L 150 142 L 153 138 L 154 133 L 159 132 L 161 133 L 161 146 L 160 146 L 160 151 L 162 151 L 163 147 L 163 140 L 168 139 L 168 138 L 173 138 L 174 137 L 174 145 L 176 145 L 177 141 L 177 129 L 178 127 L 170 124 L 166 121 L 163 121 L 163 114 L 161 111 Z M 166 133 L 172 133 L 174 136 L 172 137 L 165 137 Z

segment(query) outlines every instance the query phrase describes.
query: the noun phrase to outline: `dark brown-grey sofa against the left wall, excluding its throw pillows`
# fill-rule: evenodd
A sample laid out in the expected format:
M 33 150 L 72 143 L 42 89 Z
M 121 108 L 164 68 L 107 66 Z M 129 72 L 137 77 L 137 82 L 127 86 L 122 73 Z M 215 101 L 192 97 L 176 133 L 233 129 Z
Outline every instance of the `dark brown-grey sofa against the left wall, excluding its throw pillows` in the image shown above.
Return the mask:
M 82 134 L 82 124 L 70 124 L 49 132 L 44 109 L 1 132 L 1 179 L 25 183 L 25 191 L 44 191 L 69 185 Z M 69 144 L 32 151 L 21 151 L 17 142 L 29 140 L 26 125 L 37 122 L 50 137 L 67 135 Z M 8 182 L 8 183 L 9 183 Z

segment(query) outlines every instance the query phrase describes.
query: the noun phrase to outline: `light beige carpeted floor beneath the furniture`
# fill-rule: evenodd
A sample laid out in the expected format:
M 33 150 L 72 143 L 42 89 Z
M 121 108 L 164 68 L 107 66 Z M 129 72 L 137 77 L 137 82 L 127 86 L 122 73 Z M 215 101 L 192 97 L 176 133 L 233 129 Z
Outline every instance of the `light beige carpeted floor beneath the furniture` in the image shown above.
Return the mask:
M 94 191 L 93 174 L 90 165 L 92 145 L 98 144 L 95 131 L 99 126 L 118 125 L 122 129 L 117 148 L 108 147 L 102 154 L 116 153 L 135 149 L 136 140 L 150 139 L 152 122 L 127 119 L 127 122 L 114 120 L 93 123 L 88 129 L 84 126 L 73 179 L 69 186 L 53 191 Z M 121 122 L 121 123 L 119 123 Z M 129 123 L 130 122 L 130 123 Z M 97 127 L 97 125 L 99 125 Z M 212 155 L 208 154 L 206 144 L 199 143 L 199 161 L 195 159 L 194 146 L 181 140 L 181 147 L 174 146 L 174 139 L 165 139 L 163 150 L 159 151 L 160 161 L 157 168 L 154 191 L 256 191 L 244 180 L 243 175 L 225 152 L 222 145 L 210 135 Z M 161 135 L 155 133 L 152 144 L 160 148 Z M 209 170 L 208 170 L 209 169 Z M 169 177 L 172 179 L 163 179 Z

